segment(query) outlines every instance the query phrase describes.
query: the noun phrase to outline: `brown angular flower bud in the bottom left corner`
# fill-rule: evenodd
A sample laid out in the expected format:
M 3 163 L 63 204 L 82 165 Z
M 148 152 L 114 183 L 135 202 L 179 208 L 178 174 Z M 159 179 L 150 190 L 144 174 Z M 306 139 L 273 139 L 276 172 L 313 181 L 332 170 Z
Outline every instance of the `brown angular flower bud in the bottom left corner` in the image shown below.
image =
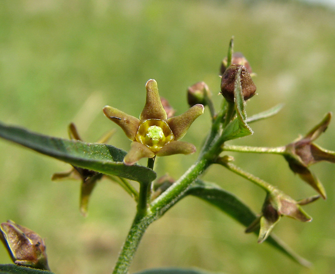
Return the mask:
M 0 239 L 14 264 L 50 270 L 44 240 L 34 231 L 9 220 L 0 225 Z

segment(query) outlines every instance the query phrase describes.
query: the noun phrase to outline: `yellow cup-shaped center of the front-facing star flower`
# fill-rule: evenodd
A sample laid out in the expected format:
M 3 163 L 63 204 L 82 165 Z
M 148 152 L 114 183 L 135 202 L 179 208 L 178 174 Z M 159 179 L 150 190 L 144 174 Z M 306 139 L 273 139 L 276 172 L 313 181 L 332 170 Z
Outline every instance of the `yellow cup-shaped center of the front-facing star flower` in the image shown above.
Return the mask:
M 141 121 L 135 138 L 137 142 L 157 152 L 165 144 L 173 141 L 175 136 L 166 121 L 148 119 Z

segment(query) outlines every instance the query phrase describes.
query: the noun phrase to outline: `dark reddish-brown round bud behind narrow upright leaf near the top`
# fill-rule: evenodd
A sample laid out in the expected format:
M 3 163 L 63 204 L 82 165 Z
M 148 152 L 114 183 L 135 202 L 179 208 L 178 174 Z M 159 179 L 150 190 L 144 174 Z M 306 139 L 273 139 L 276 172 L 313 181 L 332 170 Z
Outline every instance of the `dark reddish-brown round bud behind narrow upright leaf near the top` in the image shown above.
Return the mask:
M 235 88 L 235 81 L 236 76 L 239 69 L 242 67 L 241 70 L 241 86 L 242 86 L 242 94 L 244 96 L 244 100 L 248 100 L 252 96 L 254 96 L 256 92 L 256 85 L 254 81 L 251 79 L 251 76 L 246 69 L 246 67 L 242 65 L 231 65 L 229 66 L 226 71 L 222 74 L 221 80 L 221 94 L 227 101 L 234 101 L 234 88 Z

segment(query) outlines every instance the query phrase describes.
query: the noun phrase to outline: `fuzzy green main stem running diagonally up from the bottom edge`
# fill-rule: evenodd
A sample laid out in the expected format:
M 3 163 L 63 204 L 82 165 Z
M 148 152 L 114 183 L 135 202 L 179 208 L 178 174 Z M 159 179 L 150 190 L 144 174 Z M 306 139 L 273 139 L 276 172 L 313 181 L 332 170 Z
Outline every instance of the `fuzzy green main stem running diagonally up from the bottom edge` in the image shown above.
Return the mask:
M 222 131 L 220 121 L 223 115 L 225 115 L 225 112 L 221 111 L 216 117 L 216 120 L 212 125 L 211 133 L 195 164 L 193 164 L 178 181 L 153 200 L 150 205 L 147 204 L 147 194 L 148 191 L 150 191 L 149 186 L 151 186 L 151 183 L 140 184 L 137 214 L 123 245 L 113 274 L 126 274 L 128 272 L 128 268 L 135 255 L 136 249 L 149 224 L 161 217 L 169 208 L 183 198 L 191 183 L 215 162 L 217 155 L 221 151 L 221 144 L 218 142 L 218 137 Z M 152 160 L 154 161 L 154 159 Z M 150 159 L 148 160 L 148 167 L 153 167 L 153 161 Z

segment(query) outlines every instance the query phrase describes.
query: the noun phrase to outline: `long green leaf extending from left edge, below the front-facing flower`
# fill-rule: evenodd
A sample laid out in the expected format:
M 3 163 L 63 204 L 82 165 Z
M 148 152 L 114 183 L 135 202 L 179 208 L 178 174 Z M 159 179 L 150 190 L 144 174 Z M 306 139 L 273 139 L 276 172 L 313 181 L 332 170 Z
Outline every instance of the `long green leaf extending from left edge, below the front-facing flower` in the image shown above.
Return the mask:
M 142 165 L 125 165 L 126 151 L 107 144 L 90 144 L 34 133 L 0 123 L 0 137 L 74 166 L 137 182 L 151 182 L 156 173 Z

